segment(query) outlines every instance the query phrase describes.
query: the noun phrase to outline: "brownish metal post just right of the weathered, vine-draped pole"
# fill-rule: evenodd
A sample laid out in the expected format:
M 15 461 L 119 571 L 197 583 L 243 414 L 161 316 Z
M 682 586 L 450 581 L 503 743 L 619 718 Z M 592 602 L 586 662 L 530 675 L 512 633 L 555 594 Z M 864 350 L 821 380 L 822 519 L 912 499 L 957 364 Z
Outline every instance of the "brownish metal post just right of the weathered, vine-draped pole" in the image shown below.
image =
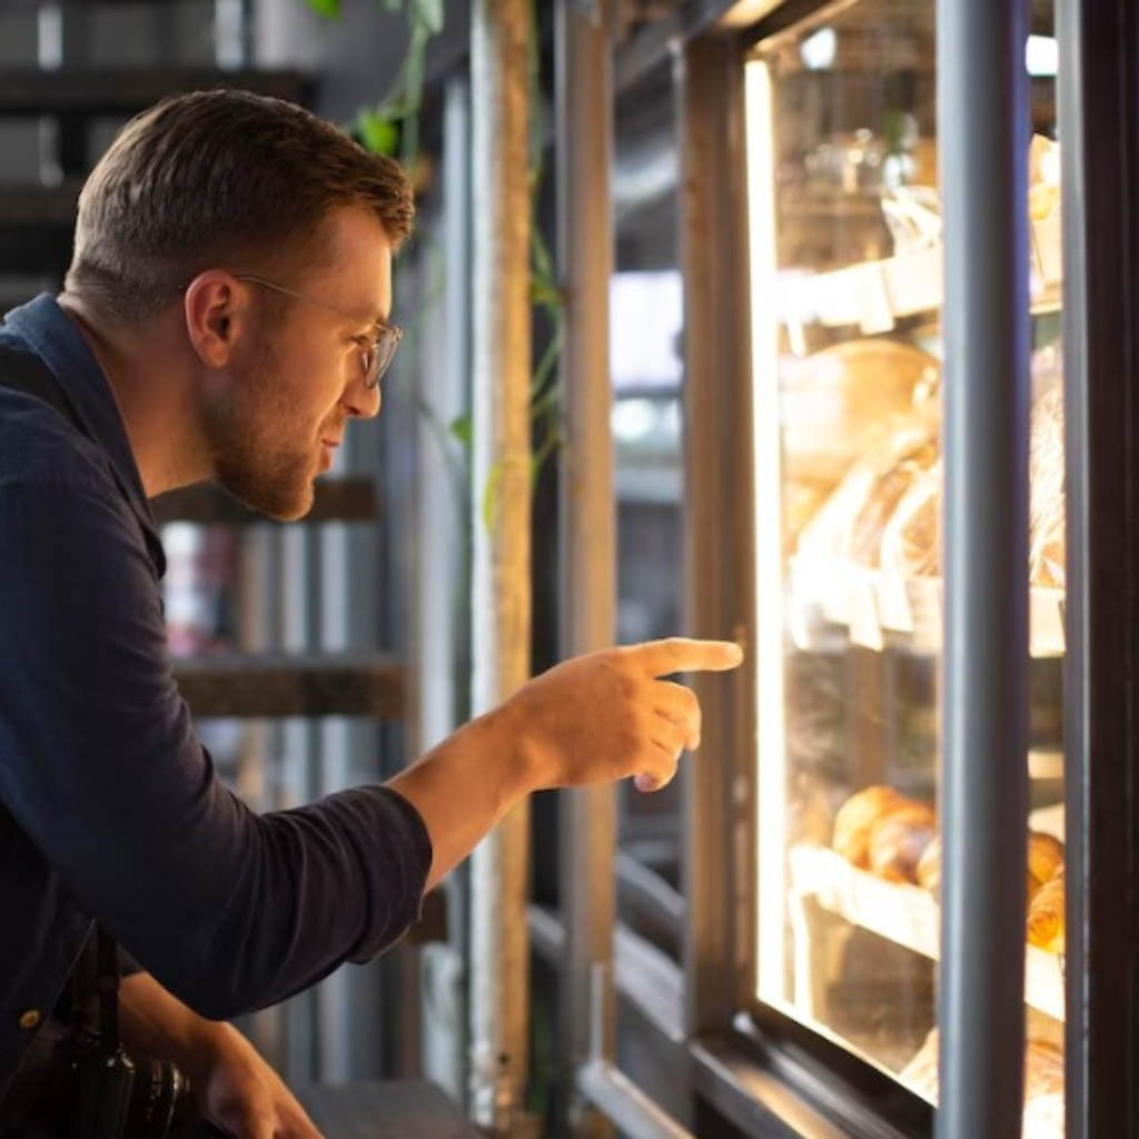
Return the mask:
M 608 5 L 557 6 L 558 264 L 565 298 L 560 388 L 563 655 L 601 648 L 615 636 L 616 550 L 609 426 L 609 278 L 613 220 L 613 79 Z M 563 792 L 560 898 L 565 926 L 559 988 L 558 1071 L 566 1081 L 614 1055 L 613 923 L 616 792 Z M 596 986 L 600 986 L 596 992 Z M 596 1021 L 597 1023 L 592 1023 Z M 591 1057 L 592 1050 L 599 1056 Z M 559 1089 L 567 1121 L 585 1111 L 574 1087 Z M 592 1120 L 589 1133 L 612 1133 Z

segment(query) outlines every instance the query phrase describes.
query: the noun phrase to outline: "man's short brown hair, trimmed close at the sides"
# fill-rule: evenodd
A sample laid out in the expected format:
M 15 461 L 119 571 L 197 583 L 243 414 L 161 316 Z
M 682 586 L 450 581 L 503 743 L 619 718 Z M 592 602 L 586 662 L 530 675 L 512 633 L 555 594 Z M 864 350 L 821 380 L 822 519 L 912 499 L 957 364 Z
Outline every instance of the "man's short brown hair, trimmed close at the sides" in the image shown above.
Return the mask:
M 306 251 L 342 206 L 394 246 L 415 215 L 399 163 L 281 99 L 177 95 L 128 123 L 79 199 L 67 289 L 120 319 L 159 312 L 199 272 Z

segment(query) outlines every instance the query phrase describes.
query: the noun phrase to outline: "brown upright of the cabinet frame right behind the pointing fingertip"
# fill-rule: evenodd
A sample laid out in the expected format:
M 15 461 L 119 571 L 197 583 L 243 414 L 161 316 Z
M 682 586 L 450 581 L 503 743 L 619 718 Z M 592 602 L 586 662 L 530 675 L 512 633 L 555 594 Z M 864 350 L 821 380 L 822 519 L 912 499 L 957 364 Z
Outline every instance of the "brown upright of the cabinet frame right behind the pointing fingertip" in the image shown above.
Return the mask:
M 744 63 L 735 41 L 705 36 L 678 57 L 681 255 L 685 273 L 685 628 L 744 640 L 754 624 L 755 480 L 744 172 Z M 724 521 L 729 525 L 724 525 Z M 753 939 L 754 654 L 732 687 L 693 678 L 702 752 L 685 764 L 687 1030 L 721 1033 L 744 1007 Z M 729 839 L 729 835 L 736 836 Z

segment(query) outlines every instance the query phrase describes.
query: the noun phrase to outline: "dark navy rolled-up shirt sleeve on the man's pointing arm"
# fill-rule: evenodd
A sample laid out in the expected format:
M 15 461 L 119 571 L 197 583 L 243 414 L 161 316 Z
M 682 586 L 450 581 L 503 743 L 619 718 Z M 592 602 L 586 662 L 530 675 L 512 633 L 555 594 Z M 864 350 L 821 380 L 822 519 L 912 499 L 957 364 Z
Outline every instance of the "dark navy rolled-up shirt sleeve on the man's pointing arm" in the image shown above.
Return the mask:
M 0 483 L 0 796 L 191 1008 L 278 1001 L 418 917 L 431 839 L 396 793 L 259 816 L 219 779 L 140 528 L 105 476 Z

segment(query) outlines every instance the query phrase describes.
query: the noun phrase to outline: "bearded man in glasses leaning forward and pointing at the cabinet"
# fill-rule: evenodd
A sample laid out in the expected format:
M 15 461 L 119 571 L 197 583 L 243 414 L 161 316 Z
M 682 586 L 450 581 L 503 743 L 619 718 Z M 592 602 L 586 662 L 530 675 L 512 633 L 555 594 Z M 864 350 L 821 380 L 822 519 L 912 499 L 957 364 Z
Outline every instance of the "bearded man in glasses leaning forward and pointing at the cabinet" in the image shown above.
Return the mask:
M 379 411 L 411 216 L 394 163 L 296 107 L 172 98 L 84 187 L 64 293 L 0 331 L 0 1117 L 39 1093 L 22 1062 L 97 919 L 146 970 L 129 1050 L 177 1062 L 233 1134 L 314 1136 L 224 1019 L 378 953 L 519 797 L 666 784 L 699 710 L 658 678 L 739 662 L 681 640 L 570 661 L 386 786 L 295 811 L 219 781 L 171 679 L 147 500 L 213 478 L 306 513 Z M 59 407 L 2 386 L 13 350 Z

